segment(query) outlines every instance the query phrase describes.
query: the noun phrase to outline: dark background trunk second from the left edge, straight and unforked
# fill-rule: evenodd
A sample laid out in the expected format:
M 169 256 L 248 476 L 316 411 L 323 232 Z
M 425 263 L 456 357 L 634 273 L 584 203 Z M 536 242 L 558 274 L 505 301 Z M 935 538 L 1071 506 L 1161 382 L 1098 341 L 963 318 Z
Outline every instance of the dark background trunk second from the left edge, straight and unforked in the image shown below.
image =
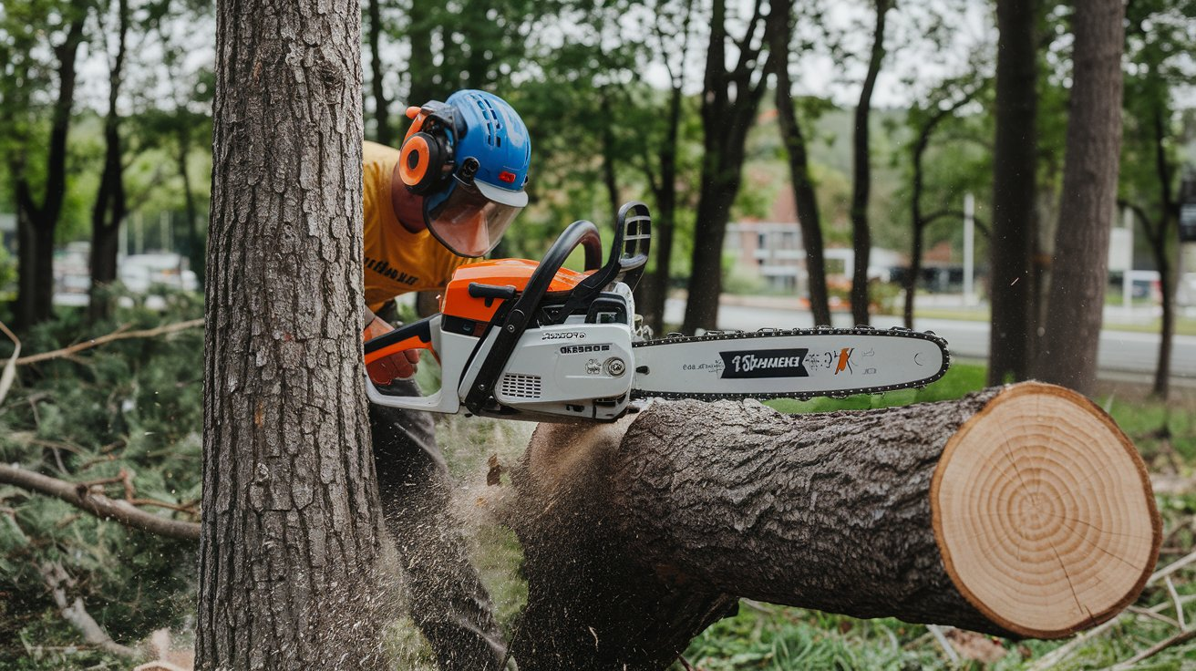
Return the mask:
M 108 116 L 104 118 L 104 171 L 91 214 L 91 289 L 87 321 L 111 315 L 109 286 L 116 281 L 116 256 L 121 221 L 124 220 L 124 164 L 121 151 L 121 116 L 116 109 L 124 72 L 124 45 L 129 32 L 129 6 L 117 0 L 116 57 L 108 78 Z

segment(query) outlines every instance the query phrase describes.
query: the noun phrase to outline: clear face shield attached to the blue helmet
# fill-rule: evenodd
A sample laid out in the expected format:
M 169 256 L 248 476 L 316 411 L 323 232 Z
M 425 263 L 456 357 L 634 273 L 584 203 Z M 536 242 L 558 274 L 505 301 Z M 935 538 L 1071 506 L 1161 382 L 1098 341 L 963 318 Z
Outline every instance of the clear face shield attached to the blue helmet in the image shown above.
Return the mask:
M 453 176 L 448 189 L 423 199 L 428 231 L 457 256 L 484 256 L 523 207 L 495 202 Z

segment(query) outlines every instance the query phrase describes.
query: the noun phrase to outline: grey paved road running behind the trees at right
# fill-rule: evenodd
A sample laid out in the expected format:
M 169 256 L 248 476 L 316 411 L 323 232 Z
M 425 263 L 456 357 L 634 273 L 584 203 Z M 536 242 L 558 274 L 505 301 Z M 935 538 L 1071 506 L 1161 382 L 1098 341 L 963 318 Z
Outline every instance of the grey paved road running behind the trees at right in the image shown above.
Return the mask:
M 670 299 L 665 309 L 665 321 L 679 324 L 685 301 Z M 872 325 L 889 328 L 901 325 L 899 317 L 875 316 Z M 777 329 L 808 328 L 813 325 L 810 312 L 779 307 L 721 305 L 720 329 L 755 330 L 761 327 Z M 836 327 L 852 325 L 850 315 L 835 315 Z M 930 330 L 947 340 L 951 353 L 963 359 L 988 358 L 988 322 L 962 322 L 953 319 L 919 319 L 919 330 Z M 1149 379 L 1154 374 L 1159 354 L 1159 336 L 1128 331 L 1105 330 L 1100 334 L 1098 366 L 1104 378 Z M 1196 386 L 1196 337 L 1177 335 L 1171 356 L 1171 376 L 1176 384 Z

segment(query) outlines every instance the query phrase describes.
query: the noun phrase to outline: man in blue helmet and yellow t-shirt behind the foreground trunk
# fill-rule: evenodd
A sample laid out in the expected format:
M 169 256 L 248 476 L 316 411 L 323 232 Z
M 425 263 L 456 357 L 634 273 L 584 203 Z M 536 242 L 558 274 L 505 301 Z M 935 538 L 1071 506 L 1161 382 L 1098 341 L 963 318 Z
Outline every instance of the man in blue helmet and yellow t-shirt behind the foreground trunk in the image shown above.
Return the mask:
M 489 252 L 527 205 L 531 142 L 505 100 L 458 91 L 409 108 L 399 150 L 364 147 L 366 340 L 392 329 L 393 298 L 443 288 Z M 415 350 L 374 361 L 377 385 L 417 395 Z M 500 669 L 505 655 L 489 594 L 450 512 L 451 484 L 426 413 L 371 404 L 383 514 L 410 587 L 411 616 L 445 670 Z

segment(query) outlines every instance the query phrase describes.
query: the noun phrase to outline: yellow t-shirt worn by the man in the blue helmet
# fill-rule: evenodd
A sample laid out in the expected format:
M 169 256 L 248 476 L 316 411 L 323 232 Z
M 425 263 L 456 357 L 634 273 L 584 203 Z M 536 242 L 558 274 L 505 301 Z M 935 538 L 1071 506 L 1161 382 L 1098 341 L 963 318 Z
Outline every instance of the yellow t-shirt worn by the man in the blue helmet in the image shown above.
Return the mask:
M 398 150 L 365 142 L 361 153 L 366 305 L 377 312 L 402 293 L 443 288 L 474 260 L 448 251 L 427 230 L 411 233 L 398 222 L 390 200 Z

